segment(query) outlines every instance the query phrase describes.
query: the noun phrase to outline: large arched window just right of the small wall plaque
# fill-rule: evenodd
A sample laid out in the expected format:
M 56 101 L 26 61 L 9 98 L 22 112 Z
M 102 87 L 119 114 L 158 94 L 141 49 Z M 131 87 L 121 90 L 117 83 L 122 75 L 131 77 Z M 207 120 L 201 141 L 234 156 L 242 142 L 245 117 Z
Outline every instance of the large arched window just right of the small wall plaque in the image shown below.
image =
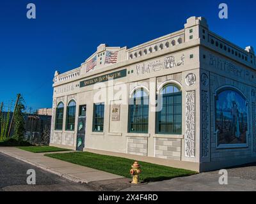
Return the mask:
M 148 94 L 141 89 L 129 101 L 129 133 L 148 133 Z

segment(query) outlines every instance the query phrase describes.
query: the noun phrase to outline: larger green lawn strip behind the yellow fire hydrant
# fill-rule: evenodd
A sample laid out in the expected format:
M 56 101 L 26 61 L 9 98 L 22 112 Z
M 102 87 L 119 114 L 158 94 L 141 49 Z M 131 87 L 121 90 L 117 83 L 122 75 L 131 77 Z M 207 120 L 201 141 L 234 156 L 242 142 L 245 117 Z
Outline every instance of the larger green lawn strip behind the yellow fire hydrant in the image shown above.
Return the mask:
M 107 171 L 116 175 L 131 178 L 129 173 L 134 160 L 122 157 L 105 156 L 90 152 L 70 152 L 62 154 L 45 154 L 45 156 L 68 161 L 70 163 L 88 166 L 97 170 Z M 140 179 L 143 182 L 154 182 L 159 180 L 172 179 L 174 177 L 184 177 L 193 175 L 197 172 L 172 168 L 169 166 L 161 166 L 139 161 L 142 173 Z

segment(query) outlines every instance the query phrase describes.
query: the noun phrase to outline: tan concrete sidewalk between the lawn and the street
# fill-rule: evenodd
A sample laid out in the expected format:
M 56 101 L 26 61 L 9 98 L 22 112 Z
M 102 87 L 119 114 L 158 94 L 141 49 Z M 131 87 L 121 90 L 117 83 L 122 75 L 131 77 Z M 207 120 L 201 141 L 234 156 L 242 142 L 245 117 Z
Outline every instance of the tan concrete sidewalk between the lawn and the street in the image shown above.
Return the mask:
M 44 156 L 46 153 L 32 153 L 15 147 L 0 147 L 0 152 L 8 156 L 32 164 L 38 168 L 49 171 L 60 177 L 73 182 L 90 183 L 114 179 L 123 179 L 124 177 L 107 173 L 105 171 L 95 170 L 85 166 L 68 163 L 58 159 Z M 51 152 L 47 152 L 49 154 Z M 56 152 L 52 152 L 56 153 Z M 61 153 L 61 152 L 58 152 Z

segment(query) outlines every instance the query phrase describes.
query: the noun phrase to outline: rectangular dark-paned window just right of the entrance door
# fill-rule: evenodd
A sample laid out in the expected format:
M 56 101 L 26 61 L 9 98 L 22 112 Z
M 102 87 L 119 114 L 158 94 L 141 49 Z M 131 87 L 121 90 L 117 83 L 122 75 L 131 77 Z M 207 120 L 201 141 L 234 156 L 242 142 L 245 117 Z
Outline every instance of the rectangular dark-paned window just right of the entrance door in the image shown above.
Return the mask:
M 95 103 L 93 107 L 93 132 L 103 132 L 104 103 Z

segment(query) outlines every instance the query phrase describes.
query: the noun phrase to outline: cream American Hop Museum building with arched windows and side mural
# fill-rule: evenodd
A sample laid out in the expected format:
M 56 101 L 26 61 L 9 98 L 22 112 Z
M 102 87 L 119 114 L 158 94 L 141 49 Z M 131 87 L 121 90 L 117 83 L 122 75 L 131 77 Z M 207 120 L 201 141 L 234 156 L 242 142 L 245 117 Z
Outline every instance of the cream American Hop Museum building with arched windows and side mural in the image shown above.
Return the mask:
M 203 17 L 55 72 L 51 143 L 195 171 L 256 161 L 256 65 Z

